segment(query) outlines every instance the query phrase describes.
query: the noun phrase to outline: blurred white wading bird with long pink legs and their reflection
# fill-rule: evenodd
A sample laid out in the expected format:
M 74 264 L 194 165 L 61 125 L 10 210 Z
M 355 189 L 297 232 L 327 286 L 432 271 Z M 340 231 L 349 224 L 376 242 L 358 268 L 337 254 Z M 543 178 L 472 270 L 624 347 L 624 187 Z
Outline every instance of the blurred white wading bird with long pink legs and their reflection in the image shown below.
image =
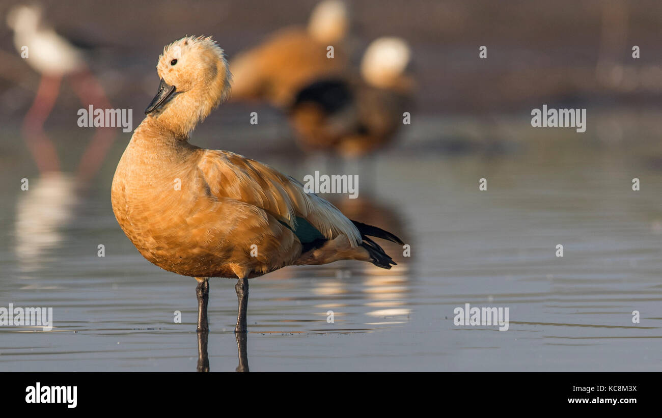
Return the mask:
M 23 120 L 23 134 L 40 173 L 46 173 L 60 170 L 55 146 L 43 126 L 60 93 L 62 77 L 71 75 L 73 89 L 84 105 L 110 106 L 101 85 L 87 69 L 83 50 L 56 33 L 42 15 L 38 6 L 19 5 L 7 14 L 7 24 L 14 30 L 17 50 L 26 54 L 28 65 L 42 75 L 37 95 Z M 112 130 L 97 128 L 81 157 L 80 179 L 88 179 L 96 173 L 112 140 Z

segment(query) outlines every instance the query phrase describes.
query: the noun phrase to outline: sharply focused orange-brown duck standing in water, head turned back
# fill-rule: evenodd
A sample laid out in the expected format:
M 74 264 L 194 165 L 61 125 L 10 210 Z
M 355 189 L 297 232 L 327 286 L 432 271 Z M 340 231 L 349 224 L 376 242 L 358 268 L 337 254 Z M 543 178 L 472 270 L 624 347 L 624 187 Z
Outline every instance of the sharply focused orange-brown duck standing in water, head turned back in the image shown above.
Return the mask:
M 226 56 L 211 36 L 186 36 L 158 59 L 158 92 L 118 162 L 117 222 L 154 265 L 197 280 L 197 330 L 209 332 L 209 278 L 237 280 L 235 333 L 246 333 L 248 280 L 294 265 L 395 262 L 371 237 L 393 233 L 353 221 L 303 185 L 254 159 L 189 143 L 230 95 Z

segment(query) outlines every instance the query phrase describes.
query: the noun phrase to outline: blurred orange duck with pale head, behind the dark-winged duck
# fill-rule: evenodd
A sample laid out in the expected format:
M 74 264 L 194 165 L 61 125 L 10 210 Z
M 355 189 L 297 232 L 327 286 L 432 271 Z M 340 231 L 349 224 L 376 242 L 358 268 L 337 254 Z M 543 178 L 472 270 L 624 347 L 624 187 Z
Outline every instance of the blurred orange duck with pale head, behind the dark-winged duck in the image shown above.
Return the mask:
M 232 60 L 232 99 L 267 101 L 279 108 L 289 106 L 297 91 L 310 81 L 344 72 L 347 57 L 342 40 L 347 30 L 344 3 L 319 3 L 307 28 L 279 30 Z M 334 58 L 327 57 L 328 46 L 334 47 Z

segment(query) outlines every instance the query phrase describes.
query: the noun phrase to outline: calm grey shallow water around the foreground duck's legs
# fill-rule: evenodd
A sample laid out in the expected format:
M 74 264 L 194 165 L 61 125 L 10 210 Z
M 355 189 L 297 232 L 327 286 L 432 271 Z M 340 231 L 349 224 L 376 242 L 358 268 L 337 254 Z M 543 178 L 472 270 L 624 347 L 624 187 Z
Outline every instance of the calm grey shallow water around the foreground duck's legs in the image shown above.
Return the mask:
M 516 139 L 506 155 L 393 150 L 363 167 L 359 199 L 336 203 L 401 234 L 411 257 L 385 243 L 391 271 L 335 263 L 251 280 L 250 370 L 662 370 L 662 172 L 618 150 Z M 0 306 L 52 307 L 54 328 L 0 327 L 0 371 L 196 369 L 195 282 L 126 239 L 113 165 L 77 192 L 3 161 Z M 508 331 L 454 325 L 467 303 L 508 307 Z M 211 281 L 209 317 L 211 370 L 233 371 L 234 280 Z

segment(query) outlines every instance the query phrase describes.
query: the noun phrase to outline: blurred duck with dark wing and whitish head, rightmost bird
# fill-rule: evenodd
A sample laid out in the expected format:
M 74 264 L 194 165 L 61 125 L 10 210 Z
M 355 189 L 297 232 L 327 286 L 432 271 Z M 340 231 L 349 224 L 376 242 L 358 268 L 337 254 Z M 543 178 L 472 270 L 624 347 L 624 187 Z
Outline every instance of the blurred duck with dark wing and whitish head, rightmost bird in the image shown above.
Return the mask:
M 347 158 L 385 146 L 410 110 L 409 60 L 404 40 L 379 38 L 363 55 L 361 79 L 326 77 L 301 89 L 289 112 L 299 144 Z

